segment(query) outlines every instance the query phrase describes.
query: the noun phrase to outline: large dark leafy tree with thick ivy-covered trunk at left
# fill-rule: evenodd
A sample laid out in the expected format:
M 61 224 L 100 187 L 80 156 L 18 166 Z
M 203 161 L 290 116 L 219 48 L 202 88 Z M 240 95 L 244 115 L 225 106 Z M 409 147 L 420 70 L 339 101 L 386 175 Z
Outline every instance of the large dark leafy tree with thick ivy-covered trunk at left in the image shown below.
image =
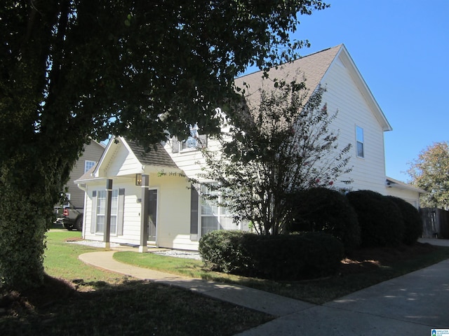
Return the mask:
M 319 0 L 5 0 L 0 8 L 0 279 L 43 279 L 53 204 L 91 137 L 148 148 L 232 104 L 234 77 L 295 56 Z M 287 48 L 280 48 L 287 47 Z M 279 51 L 283 50 L 283 51 Z

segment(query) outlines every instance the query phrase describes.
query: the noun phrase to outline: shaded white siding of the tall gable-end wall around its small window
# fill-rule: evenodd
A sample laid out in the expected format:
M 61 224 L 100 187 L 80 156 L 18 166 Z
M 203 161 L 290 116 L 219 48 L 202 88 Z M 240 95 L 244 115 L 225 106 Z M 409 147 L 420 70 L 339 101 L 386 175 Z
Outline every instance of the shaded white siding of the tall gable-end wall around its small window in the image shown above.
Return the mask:
M 329 113 L 338 110 L 332 127 L 340 130 L 338 143 L 341 148 L 352 144 L 348 167 L 353 169 L 342 179 L 354 180 L 349 186 L 351 190 L 369 189 L 385 194 L 384 134 L 379 122 L 341 62 L 330 67 L 322 84 L 327 88 L 322 102 L 328 104 Z M 356 156 L 356 125 L 363 128 L 365 158 Z

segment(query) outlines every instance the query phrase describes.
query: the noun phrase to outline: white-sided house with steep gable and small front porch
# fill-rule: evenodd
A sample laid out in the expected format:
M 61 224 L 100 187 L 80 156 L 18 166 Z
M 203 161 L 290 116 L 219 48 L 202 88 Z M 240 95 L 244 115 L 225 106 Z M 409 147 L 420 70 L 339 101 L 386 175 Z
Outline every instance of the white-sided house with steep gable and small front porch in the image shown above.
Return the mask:
M 310 93 L 319 85 L 326 87 L 323 103 L 328 104 L 328 111 L 339 111 L 333 122 L 333 128 L 340 130 L 338 142 L 341 146 L 353 144 L 349 162 L 352 172 L 342 176 L 353 180 L 351 190 L 369 189 L 389 195 L 389 190 L 395 189 L 409 202 L 419 200 L 420 190 L 387 188 L 391 184 L 387 186 L 385 176 L 383 133 L 391 130 L 391 126 L 344 45 L 272 69 L 269 76 L 287 80 L 305 78 Z M 249 85 L 248 93 L 257 97 L 257 91 L 263 86 L 262 73 L 236 79 L 237 85 L 243 82 Z M 122 137 L 109 141 L 93 172 L 75 181 L 86 193 L 84 239 L 104 239 L 107 179 L 112 180 L 111 242 L 139 245 L 141 226 L 145 223 L 143 214 L 149 217 L 149 235 L 142 241 L 160 247 L 196 250 L 201 235 L 210 230 L 246 229 L 232 223 L 220 207 L 201 200 L 199 195 L 204 185 L 193 188 L 189 183 L 188 178 L 196 177 L 203 162 L 195 137 L 201 130 L 191 127 L 190 131 L 192 137 L 186 141 L 172 139 L 147 155 L 142 155 L 142 148 Z M 216 141 L 205 136 L 199 139 L 201 146 L 217 146 Z M 140 186 L 142 174 L 149 176 L 147 202 L 142 202 L 142 189 L 145 189 Z

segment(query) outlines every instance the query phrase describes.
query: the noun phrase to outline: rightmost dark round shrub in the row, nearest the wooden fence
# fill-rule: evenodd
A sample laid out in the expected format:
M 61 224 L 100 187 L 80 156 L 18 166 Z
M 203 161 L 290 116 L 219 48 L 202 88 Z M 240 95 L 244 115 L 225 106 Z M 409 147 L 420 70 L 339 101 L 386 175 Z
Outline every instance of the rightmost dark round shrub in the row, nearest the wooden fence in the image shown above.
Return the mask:
M 420 212 L 412 204 L 402 198 L 387 196 L 401 210 L 404 221 L 403 243 L 413 245 L 422 235 L 422 218 Z

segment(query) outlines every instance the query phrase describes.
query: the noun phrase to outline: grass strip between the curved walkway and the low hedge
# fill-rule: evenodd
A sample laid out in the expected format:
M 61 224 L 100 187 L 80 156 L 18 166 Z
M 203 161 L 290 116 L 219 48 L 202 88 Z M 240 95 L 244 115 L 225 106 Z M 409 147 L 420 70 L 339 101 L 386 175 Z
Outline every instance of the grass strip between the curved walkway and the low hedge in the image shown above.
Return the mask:
M 330 300 L 335 300 L 337 297 L 342 297 L 356 290 L 373 286 L 376 283 L 393 279 L 396 276 L 413 272 L 448 258 L 449 248 L 438 247 L 428 253 L 413 256 L 413 258 L 408 260 L 384 262 L 380 267 L 373 267 L 373 269 L 367 269 L 357 274 L 340 274 L 326 277 L 325 279 L 284 282 L 210 272 L 203 268 L 203 262 L 200 260 L 166 257 L 153 253 L 114 253 L 114 259 L 140 267 L 210 281 L 238 283 L 243 286 L 293 297 L 297 300 L 304 300 L 314 304 L 323 304 Z

